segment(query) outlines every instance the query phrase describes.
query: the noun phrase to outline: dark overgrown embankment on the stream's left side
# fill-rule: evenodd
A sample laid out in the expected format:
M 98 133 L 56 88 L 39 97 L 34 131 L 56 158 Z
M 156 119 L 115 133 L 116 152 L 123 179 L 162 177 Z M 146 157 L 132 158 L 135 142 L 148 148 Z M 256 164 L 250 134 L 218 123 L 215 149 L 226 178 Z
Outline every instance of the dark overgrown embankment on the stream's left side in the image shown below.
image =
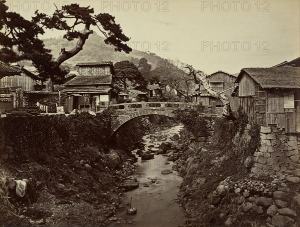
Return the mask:
M 139 119 L 124 125 L 118 146 L 109 129 L 109 112 L 1 119 L 0 178 L 27 179 L 28 190 L 22 200 L 7 198 L 1 182 L 0 226 L 105 225 L 134 169 L 127 150 L 148 126 Z

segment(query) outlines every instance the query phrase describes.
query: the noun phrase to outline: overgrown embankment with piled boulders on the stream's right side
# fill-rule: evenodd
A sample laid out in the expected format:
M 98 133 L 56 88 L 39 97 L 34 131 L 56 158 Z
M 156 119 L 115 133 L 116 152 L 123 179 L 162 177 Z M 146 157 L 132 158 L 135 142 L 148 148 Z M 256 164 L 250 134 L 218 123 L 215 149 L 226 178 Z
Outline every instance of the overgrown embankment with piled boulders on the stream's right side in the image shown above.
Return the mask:
M 245 119 L 215 119 L 215 135 L 206 145 L 191 140 L 190 131 L 181 132 L 183 155 L 174 168 L 184 179 L 178 202 L 191 218 L 189 226 L 300 225 L 299 185 L 250 173 L 259 127 L 246 127 Z

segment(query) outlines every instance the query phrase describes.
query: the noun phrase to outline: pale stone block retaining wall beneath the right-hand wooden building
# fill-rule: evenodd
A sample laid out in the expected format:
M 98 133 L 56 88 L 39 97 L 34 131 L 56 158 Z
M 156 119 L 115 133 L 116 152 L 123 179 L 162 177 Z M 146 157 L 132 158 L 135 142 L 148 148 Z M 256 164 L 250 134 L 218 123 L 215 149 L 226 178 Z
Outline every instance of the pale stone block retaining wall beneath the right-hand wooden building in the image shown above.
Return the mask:
M 284 129 L 260 127 L 261 147 L 254 153 L 251 172 L 256 175 L 266 173 L 276 175 L 279 180 L 299 180 L 300 160 L 298 134 L 285 134 Z M 292 178 L 290 178 L 292 176 Z

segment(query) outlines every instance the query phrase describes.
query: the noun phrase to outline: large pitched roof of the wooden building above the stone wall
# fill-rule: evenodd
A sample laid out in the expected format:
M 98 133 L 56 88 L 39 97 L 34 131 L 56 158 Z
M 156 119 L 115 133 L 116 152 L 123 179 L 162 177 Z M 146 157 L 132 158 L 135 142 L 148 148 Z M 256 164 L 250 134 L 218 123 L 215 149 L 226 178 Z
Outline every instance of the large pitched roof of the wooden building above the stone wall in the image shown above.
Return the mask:
M 249 74 L 262 88 L 300 88 L 300 67 L 243 68 L 235 83 L 240 80 L 242 72 Z

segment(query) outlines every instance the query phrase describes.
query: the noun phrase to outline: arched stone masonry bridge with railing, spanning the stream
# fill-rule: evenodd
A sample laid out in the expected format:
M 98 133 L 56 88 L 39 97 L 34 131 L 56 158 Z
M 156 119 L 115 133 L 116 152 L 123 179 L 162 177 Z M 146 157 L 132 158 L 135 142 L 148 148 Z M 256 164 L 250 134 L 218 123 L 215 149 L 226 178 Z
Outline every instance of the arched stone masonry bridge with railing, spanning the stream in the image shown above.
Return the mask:
M 112 116 L 111 132 L 112 134 L 120 128 L 125 122 L 133 118 L 145 115 L 164 115 L 173 117 L 174 110 L 199 109 L 202 113 L 214 114 L 215 106 L 202 106 L 196 103 L 185 102 L 134 102 L 109 105 L 109 109 L 116 111 Z

